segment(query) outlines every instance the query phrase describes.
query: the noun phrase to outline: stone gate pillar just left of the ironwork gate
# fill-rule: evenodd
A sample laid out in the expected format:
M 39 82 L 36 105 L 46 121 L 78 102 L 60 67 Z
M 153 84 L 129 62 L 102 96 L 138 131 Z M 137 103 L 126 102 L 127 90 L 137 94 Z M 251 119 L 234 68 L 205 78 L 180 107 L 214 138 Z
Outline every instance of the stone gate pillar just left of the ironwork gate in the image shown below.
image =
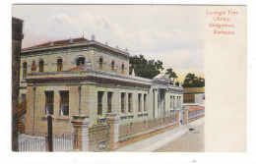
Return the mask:
M 89 116 L 73 116 L 71 123 L 76 134 L 74 149 L 89 151 Z

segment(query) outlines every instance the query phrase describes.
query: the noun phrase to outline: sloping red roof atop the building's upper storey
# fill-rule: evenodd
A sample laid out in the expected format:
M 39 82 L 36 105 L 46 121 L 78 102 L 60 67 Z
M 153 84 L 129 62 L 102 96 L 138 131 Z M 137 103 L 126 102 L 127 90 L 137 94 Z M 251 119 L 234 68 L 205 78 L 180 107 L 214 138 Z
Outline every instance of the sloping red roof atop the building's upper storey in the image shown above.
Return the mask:
M 29 50 L 29 49 L 33 49 L 33 48 L 41 48 L 41 47 L 48 47 L 53 45 L 65 45 L 65 44 L 70 44 L 70 43 L 77 43 L 77 42 L 86 42 L 89 41 L 88 39 L 84 38 L 84 37 L 79 37 L 79 38 L 74 38 L 74 39 L 65 39 L 65 40 L 57 40 L 57 41 L 49 41 L 49 42 L 45 42 L 45 43 L 41 43 L 38 45 L 34 45 L 28 48 L 24 48 L 23 50 Z

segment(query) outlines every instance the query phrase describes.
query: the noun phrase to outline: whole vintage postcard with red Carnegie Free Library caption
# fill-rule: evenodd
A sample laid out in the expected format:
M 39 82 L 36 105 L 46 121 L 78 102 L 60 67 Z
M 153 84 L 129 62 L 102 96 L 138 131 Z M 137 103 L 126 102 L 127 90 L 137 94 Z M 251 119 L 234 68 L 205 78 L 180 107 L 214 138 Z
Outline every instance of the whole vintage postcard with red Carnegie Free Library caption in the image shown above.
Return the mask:
M 246 6 L 14 4 L 12 31 L 13 151 L 246 151 Z

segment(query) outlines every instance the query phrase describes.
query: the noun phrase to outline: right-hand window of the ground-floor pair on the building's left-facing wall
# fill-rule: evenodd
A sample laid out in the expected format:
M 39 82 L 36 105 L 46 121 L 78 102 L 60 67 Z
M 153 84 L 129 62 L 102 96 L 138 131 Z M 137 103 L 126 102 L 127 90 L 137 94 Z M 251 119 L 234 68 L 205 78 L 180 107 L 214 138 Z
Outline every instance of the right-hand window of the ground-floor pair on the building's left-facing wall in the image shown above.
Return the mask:
M 69 115 L 69 91 L 60 91 L 60 115 Z

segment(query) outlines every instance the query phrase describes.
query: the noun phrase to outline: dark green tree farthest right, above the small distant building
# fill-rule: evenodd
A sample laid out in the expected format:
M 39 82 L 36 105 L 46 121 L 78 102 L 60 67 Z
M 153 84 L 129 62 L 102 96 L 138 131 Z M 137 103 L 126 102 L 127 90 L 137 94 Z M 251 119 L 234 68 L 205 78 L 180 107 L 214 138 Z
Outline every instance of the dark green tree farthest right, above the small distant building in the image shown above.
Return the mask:
M 195 74 L 187 74 L 185 80 L 182 84 L 183 87 L 204 87 L 205 79 L 201 77 L 196 77 Z

